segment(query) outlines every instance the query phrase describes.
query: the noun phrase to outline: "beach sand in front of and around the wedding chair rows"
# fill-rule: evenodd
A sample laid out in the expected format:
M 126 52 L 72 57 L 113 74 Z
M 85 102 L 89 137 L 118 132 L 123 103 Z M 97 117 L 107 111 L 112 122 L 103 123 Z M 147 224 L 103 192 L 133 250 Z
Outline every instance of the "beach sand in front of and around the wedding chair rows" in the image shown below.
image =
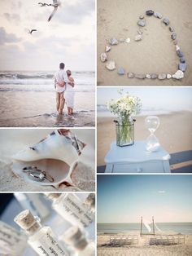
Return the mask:
M 192 254 L 192 235 L 185 235 L 182 245 L 145 245 L 149 236 L 139 237 L 140 244 L 124 247 L 102 247 L 110 235 L 98 235 L 98 256 L 190 256 Z

